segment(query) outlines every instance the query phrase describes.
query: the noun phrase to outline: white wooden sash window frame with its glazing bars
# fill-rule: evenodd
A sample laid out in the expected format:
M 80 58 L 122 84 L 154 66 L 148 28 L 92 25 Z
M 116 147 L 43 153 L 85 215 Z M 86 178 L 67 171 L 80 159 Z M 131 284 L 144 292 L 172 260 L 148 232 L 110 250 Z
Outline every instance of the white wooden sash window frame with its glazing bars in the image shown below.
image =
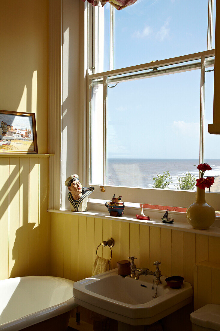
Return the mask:
M 112 7 L 112 6 L 111 6 Z M 95 15 L 95 21 L 93 19 L 93 31 L 96 31 L 96 38 L 94 38 L 93 33 L 93 59 L 94 59 L 94 48 L 98 48 L 98 9 L 99 7 L 90 6 L 90 10 L 93 11 L 93 17 Z M 113 8 L 113 7 L 112 7 Z M 114 10 L 111 9 L 111 18 L 110 18 L 110 49 L 114 44 Z M 213 66 L 213 60 L 211 57 L 214 56 L 215 50 L 211 49 L 212 47 L 212 17 L 213 17 L 213 0 L 209 0 L 208 3 L 208 32 L 207 32 L 207 50 L 195 54 L 184 55 L 176 58 L 165 59 L 157 61 L 157 68 L 169 66 L 173 64 L 181 64 L 187 61 L 197 61 L 201 60 L 200 67 L 198 64 L 195 64 L 195 68 L 201 70 L 201 100 L 200 100 L 200 163 L 204 162 L 204 93 L 205 93 L 205 62 L 206 66 Z M 94 24 L 95 22 L 95 24 Z M 91 24 L 91 23 L 90 23 Z M 90 25 L 91 26 L 91 25 Z M 97 54 L 97 53 L 96 53 Z M 91 56 L 89 57 L 91 58 Z M 141 75 L 143 78 L 146 75 L 155 75 L 157 72 L 151 73 L 135 73 L 136 71 L 147 70 L 155 68 L 155 63 L 145 63 L 142 65 L 131 66 L 127 68 L 121 68 L 114 70 L 114 48 L 110 54 L 110 68 L 111 70 L 105 72 L 96 72 L 98 71 L 97 57 L 96 61 L 89 64 L 89 70 L 87 71 L 87 164 L 86 164 L 86 182 L 87 185 L 92 185 L 91 181 L 91 165 L 92 165 L 92 80 L 93 79 L 102 79 L 103 80 L 103 181 L 100 185 L 92 185 L 95 187 L 95 190 L 92 194 L 93 199 L 108 200 L 113 194 L 123 196 L 123 200 L 130 203 L 147 203 L 153 205 L 168 205 L 175 207 L 188 207 L 195 200 L 195 191 L 183 191 L 183 190 L 163 190 L 163 189 L 154 189 L 154 188 L 135 188 L 135 187 L 121 187 L 121 186 L 109 186 L 106 185 L 106 164 L 107 164 L 107 78 L 112 77 L 111 82 L 116 81 L 114 76 L 128 74 L 129 79 L 140 79 Z M 209 61 L 209 62 L 208 62 Z M 91 65 L 92 64 L 92 65 Z M 95 67 L 96 66 L 96 67 Z M 185 66 L 185 67 L 184 67 Z M 94 69 L 93 69 L 93 68 Z M 197 68 L 196 68 L 197 67 Z M 168 68 L 168 67 L 167 67 Z M 175 72 L 192 70 L 192 64 L 180 65 L 177 69 L 174 69 Z M 94 73 L 93 73 L 93 72 Z M 165 70 L 164 70 L 165 71 Z M 172 70 L 170 70 L 172 71 Z M 132 74 L 133 73 L 133 74 Z M 171 72 L 170 72 L 171 73 Z M 161 74 L 167 74 L 167 72 L 160 72 Z M 123 79 L 124 78 L 124 79 Z M 120 78 L 122 80 L 128 79 L 128 76 Z M 105 193 L 100 191 L 100 186 L 105 187 Z M 219 195 L 220 193 L 210 193 L 206 195 L 207 203 L 210 203 L 216 211 L 220 210 L 219 206 Z

